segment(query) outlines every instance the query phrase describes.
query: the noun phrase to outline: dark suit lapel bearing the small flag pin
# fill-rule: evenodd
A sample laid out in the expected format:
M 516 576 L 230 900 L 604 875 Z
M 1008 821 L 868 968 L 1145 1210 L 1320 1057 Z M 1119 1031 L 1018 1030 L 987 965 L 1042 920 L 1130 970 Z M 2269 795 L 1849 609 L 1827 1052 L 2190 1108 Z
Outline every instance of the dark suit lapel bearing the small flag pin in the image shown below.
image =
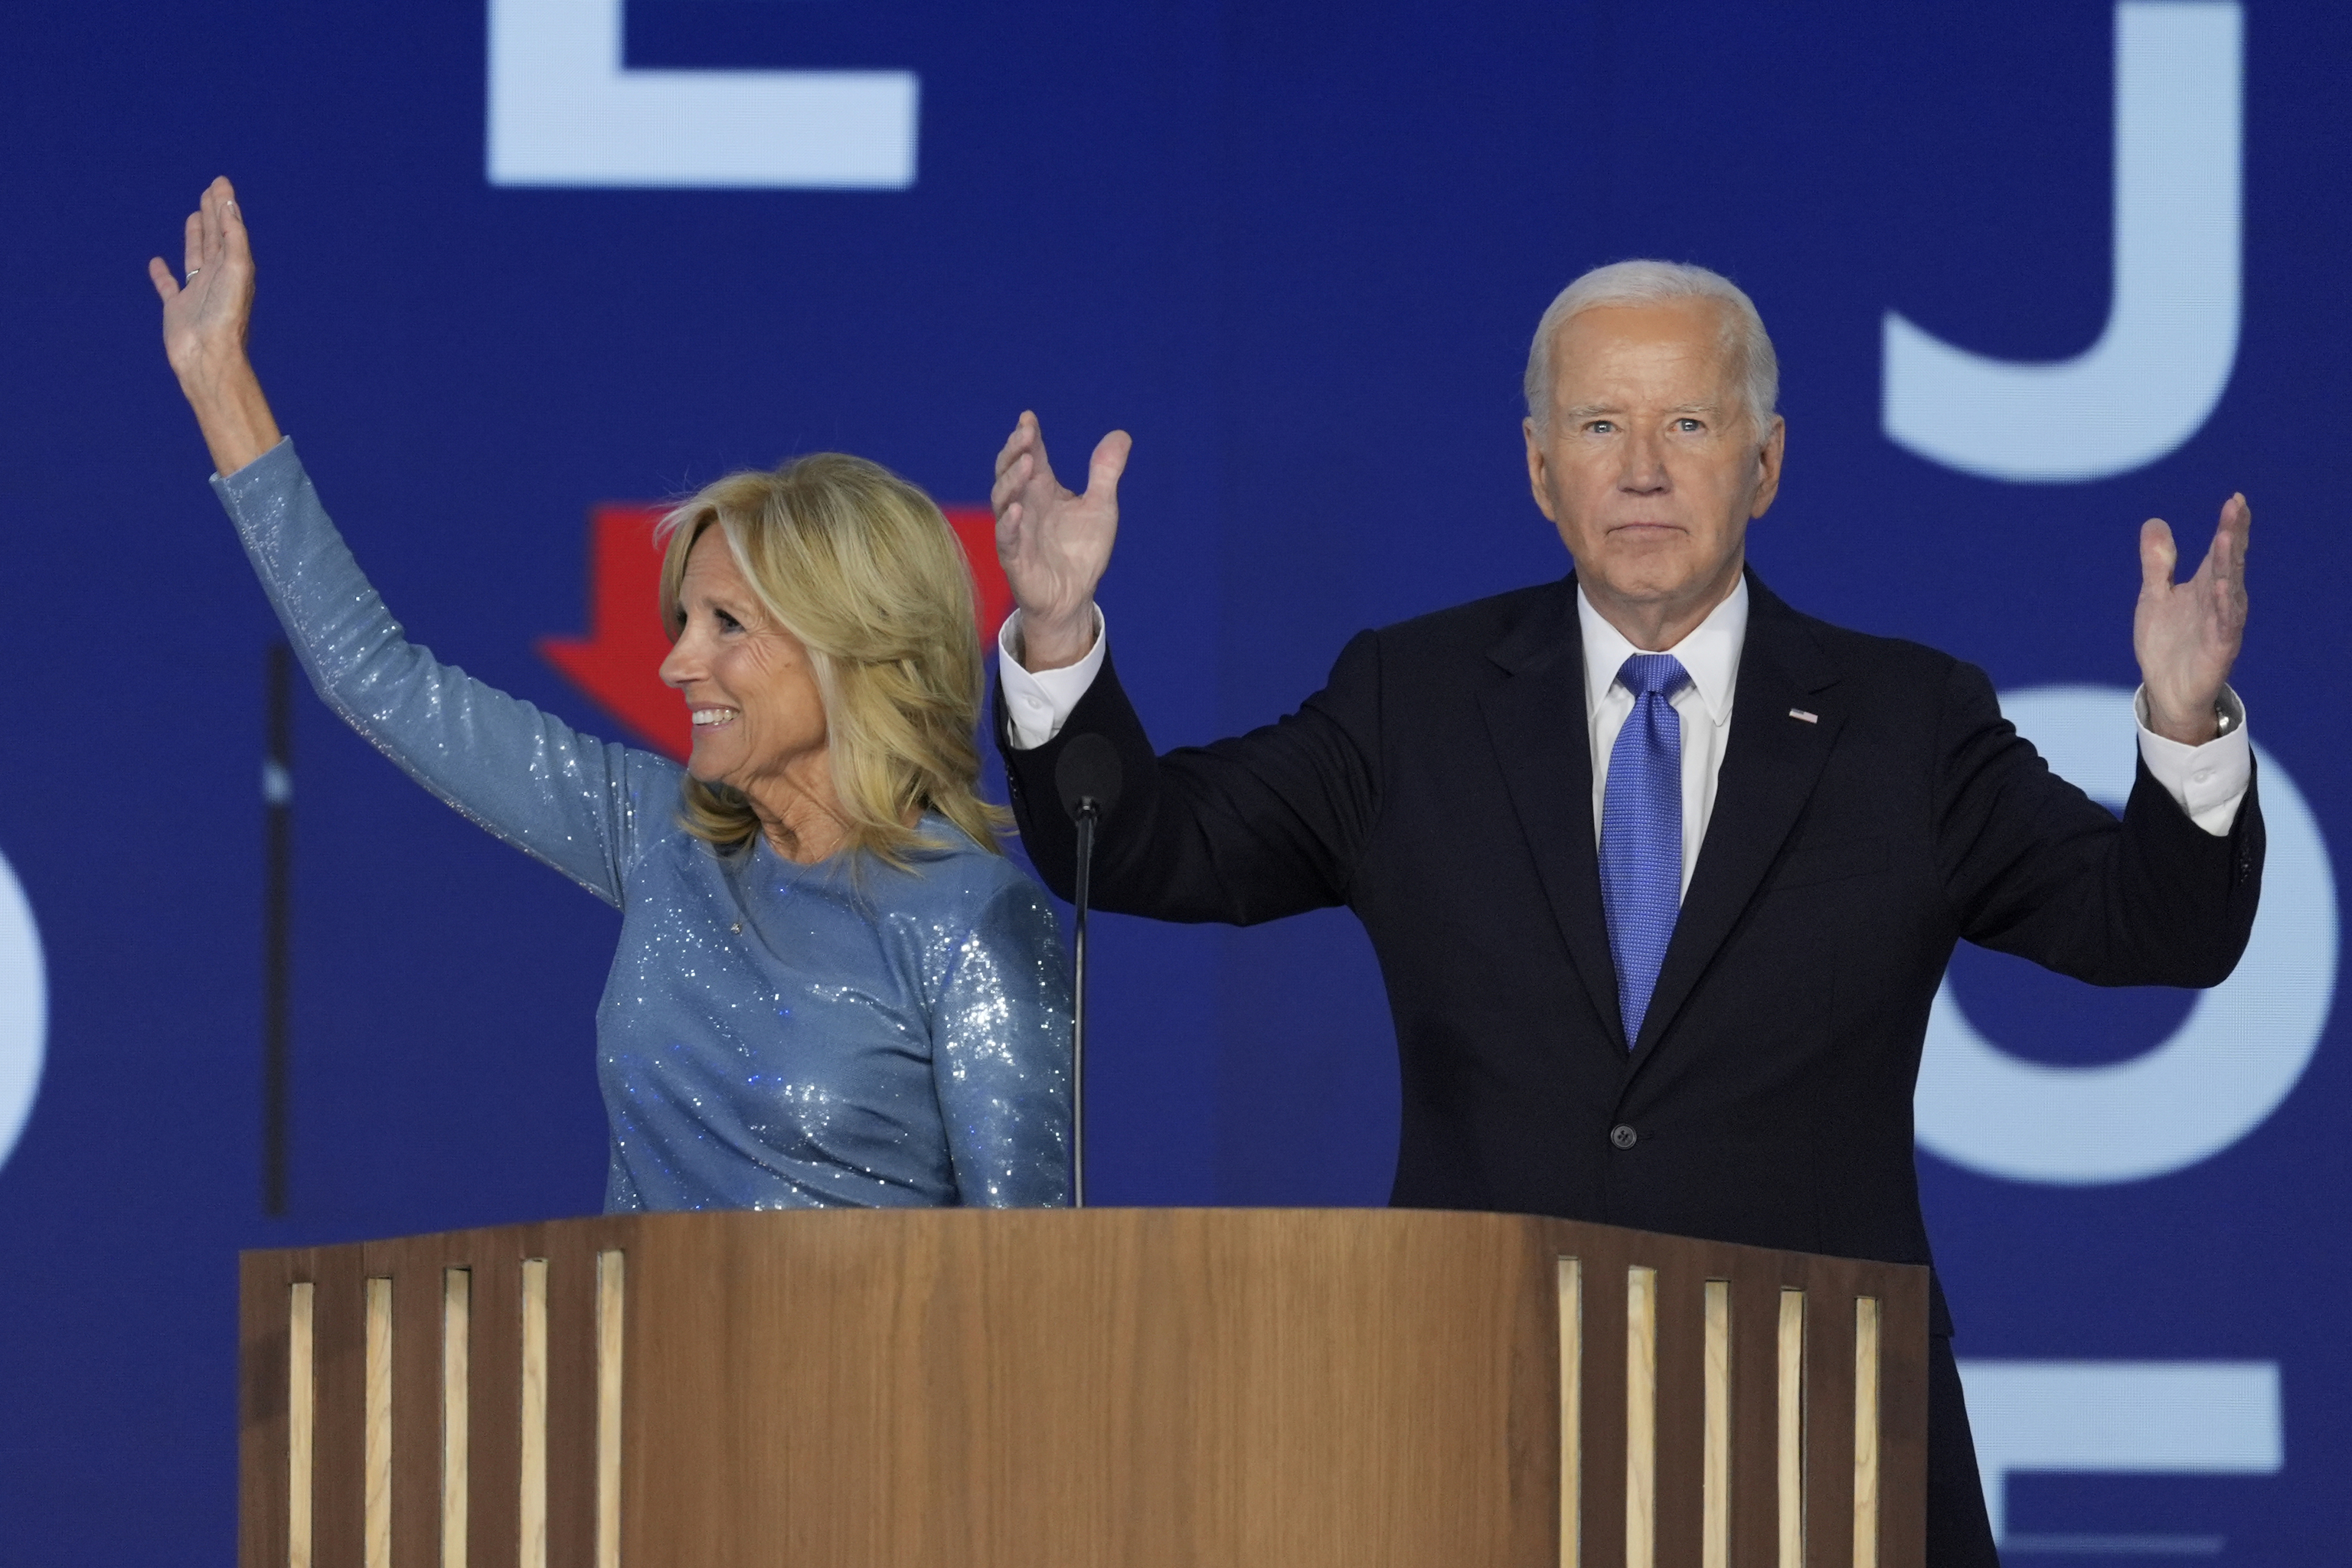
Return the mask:
M 1837 684 L 1837 670 L 1804 621 L 1755 574 L 1748 576 L 1748 639 L 1740 646 L 1740 679 L 1731 696 L 1731 736 L 1715 783 L 1715 811 L 1708 818 L 1691 891 L 1682 898 L 1675 938 L 1665 947 L 1658 990 L 1642 1018 L 1635 1070 L 1675 1023 L 1675 1013 L 1689 1001 L 1698 978 L 1755 900 L 1764 872 L 1778 858 L 1830 759 L 1842 724 L 1837 705 L 1818 696 Z M 1792 708 L 1811 712 L 1813 722 L 1790 717 Z M 1590 778 L 1588 762 L 1588 792 Z M 1595 870 L 1595 891 L 1597 877 Z M 1606 938 L 1602 954 L 1606 959 Z

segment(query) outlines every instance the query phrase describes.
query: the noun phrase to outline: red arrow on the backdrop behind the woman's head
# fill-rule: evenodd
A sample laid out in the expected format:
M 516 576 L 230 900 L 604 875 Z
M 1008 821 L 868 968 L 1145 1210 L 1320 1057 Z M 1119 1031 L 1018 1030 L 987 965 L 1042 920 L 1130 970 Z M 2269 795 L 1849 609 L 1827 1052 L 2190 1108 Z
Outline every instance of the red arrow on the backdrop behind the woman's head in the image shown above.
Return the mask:
M 1014 592 L 997 564 L 997 520 L 985 505 L 941 508 L 964 545 L 978 588 L 981 646 L 997 646 Z M 607 501 L 588 512 L 588 635 L 541 637 L 539 654 L 621 722 L 642 745 L 684 762 L 694 743 L 687 705 L 661 684 L 670 632 L 661 625 L 661 548 L 654 524 L 666 505 Z

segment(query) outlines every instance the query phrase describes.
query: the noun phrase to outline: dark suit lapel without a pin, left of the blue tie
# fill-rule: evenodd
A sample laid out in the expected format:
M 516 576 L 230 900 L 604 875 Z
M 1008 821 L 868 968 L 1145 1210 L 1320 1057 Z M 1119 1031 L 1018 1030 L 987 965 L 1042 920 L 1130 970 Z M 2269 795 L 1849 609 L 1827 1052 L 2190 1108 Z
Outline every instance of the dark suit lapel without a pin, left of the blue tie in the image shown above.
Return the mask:
M 1602 870 L 1592 846 L 1592 741 L 1576 578 L 1564 578 L 1557 595 L 1489 649 L 1489 658 L 1510 670 L 1508 682 L 1479 693 L 1510 804 L 1592 1011 L 1606 1039 L 1623 1051 L 1616 961 L 1609 957 L 1609 917 L 1602 912 Z

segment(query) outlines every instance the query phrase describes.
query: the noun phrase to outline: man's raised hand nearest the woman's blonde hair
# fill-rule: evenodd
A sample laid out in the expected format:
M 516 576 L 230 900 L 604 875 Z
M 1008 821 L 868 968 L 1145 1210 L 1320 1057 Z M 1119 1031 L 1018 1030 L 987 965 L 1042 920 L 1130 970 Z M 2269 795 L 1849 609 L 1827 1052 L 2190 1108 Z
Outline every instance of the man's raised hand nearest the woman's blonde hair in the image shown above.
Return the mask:
M 1023 414 L 997 454 L 997 559 L 1021 607 L 1021 665 L 1061 670 L 1094 646 L 1094 585 L 1110 567 L 1120 536 L 1120 475 L 1127 470 L 1124 430 L 1094 447 L 1087 494 L 1068 491 L 1044 456 L 1035 414 Z

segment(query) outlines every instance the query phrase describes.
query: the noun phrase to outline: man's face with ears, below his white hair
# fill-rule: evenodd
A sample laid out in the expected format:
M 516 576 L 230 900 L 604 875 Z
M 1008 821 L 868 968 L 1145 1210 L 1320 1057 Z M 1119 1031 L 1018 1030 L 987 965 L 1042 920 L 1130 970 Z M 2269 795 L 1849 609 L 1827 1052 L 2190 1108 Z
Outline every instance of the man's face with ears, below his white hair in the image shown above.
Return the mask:
M 1597 609 L 1712 609 L 1780 487 L 1783 425 L 1757 442 L 1724 317 L 1708 299 L 1604 306 L 1552 339 L 1526 477 Z

